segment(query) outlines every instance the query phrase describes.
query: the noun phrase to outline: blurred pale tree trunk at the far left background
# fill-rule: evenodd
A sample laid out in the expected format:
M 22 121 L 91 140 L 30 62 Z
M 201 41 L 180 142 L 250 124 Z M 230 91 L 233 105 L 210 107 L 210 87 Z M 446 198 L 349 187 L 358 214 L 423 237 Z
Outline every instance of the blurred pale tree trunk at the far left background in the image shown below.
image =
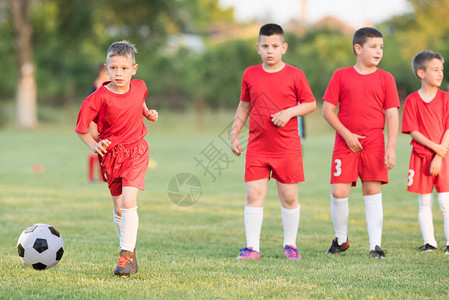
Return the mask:
M 31 0 L 9 1 L 15 36 L 19 78 L 16 89 L 17 126 L 34 128 L 37 126 L 36 80 L 33 61 L 31 35 Z

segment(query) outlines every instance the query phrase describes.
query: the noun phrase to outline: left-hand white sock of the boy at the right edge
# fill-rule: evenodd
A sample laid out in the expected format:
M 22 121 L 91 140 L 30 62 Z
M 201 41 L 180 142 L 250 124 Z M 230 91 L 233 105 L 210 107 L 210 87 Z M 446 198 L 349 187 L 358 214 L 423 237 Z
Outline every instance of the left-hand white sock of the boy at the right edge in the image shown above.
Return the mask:
M 435 231 L 433 229 L 433 194 L 419 194 L 419 212 L 418 222 L 421 228 L 424 244 L 430 244 L 437 248 L 437 241 L 435 240 Z

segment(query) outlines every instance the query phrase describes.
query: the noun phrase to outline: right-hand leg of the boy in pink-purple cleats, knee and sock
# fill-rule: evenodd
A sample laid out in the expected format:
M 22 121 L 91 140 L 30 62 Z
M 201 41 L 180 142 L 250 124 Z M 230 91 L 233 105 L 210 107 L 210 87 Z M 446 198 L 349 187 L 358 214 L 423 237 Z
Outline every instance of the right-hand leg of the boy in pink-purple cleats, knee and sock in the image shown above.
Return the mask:
M 298 234 L 300 207 L 298 203 L 298 184 L 281 183 L 277 181 L 278 195 L 281 200 L 282 224 L 284 226 L 284 247 L 287 245 L 296 248 Z

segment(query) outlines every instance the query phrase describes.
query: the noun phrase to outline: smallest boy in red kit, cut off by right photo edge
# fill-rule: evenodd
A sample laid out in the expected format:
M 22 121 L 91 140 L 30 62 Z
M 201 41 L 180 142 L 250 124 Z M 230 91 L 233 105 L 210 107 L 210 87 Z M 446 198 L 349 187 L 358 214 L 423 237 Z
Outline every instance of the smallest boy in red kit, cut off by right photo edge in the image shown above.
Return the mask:
M 435 186 L 444 216 L 445 253 L 449 255 L 449 94 L 439 89 L 443 62 L 443 57 L 432 51 L 421 51 L 413 58 L 413 72 L 421 80 L 421 88 L 405 100 L 402 132 L 412 137 L 407 190 L 419 194 L 421 249 L 438 247 L 432 219 Z

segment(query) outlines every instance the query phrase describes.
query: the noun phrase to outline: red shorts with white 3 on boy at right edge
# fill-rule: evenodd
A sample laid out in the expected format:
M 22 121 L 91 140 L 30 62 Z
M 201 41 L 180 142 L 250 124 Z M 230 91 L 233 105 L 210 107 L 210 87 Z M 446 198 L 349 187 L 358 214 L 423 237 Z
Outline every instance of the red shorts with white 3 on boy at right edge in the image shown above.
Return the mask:
M 412 151 L 408 170 L 407 191 L 419 194 L 430 194 L 433 187 L 438 193 L 449 192 L 449 159 L 443 158 L 438 176 L 430 175 L 430 164 L 433 157 L 421 157 Z

